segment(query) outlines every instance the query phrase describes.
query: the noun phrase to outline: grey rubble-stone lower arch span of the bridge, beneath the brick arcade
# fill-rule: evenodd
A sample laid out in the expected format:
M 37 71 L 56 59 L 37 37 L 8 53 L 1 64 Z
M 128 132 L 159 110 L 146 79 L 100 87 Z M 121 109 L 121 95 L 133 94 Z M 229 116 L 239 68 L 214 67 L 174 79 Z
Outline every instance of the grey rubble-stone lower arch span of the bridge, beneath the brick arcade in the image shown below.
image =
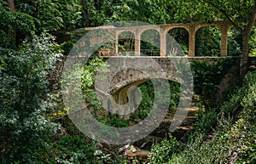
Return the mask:
M 105 58 L 106 59 L 106 58 Z M 160 78 L 181 82 L 177 73 L 179 62 L 185 58 L 161 58 L 161 57 L 111 57 L 105 60 L 109 71 L 99 71 L 96 76 L 96 89 L 102 93 L 108 93 L 118 99 L 119 104 L 126 103 L 126 93 L 131 87 L 139 85 L 151 79 Z M 104 78 L 105 77 L 105 78 Z

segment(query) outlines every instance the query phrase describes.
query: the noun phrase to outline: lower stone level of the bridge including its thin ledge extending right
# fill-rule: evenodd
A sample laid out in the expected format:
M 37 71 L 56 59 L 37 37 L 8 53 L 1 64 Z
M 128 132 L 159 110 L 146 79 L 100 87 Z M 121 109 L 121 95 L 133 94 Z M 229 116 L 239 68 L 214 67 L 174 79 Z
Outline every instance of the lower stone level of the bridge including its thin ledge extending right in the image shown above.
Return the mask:
M 102 72 L 100 70 L 96 75 L 96 91 L 102 96 L 112 95 L 116 103 L 123 105 L 129 99 L 127 93 L 134 88 L 152 79 L 166 79 L 180 83 L 183 92 L 187 92 L 188 96 L 192 94 L 189 92 L 193 92 L 190 61 L 207 61 L 214 65 L 226 58 L 230 57 L 104 57 L 103 59 L 109 65 L 109 70 Z M 133 97 L 135 96 L 133 95 Z

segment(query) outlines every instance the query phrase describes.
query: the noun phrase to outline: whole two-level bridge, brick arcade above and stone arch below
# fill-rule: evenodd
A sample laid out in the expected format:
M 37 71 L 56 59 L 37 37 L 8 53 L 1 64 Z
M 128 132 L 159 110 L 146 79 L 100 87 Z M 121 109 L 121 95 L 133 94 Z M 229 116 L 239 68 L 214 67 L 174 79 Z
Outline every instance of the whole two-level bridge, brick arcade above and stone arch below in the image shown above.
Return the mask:
M 159 78 L 183 83 L 188 81 L 191 84 L 191 72 L 189 61 L 196 60 L 212 60 L 210 57 L 195 57 L 195 34 L 201 27 L 213 25 L 218 27 L 221 32 L 220 57 L 227 57 L 228 31 L 232 27 L 228 21 L 213 22 L 195 22 L 187 24 L 166 24 L 166 25 L 126 25 L 126 26 L 102 26 L 90 28 L 89 35 L 85 35 L 78 43 L 79 51 L 71 51 L 71 58 L 85 57 L 98 51 L 104 57 L 109 65 L 110 71 L 99 72 L 96 78 L 96 90 L 98 93 L 111 94 L 119 104 L 127 102 L 127 92 L 129 88 L 138 87 L 143 82 L 150 79 Z M 168 47 L 168 32 L 175 28 L 183 28 L 189 33 L 189 57 L 168 56 L 167 52 L 178 51 L 183 54 L 182 49 L 172 42 L 172 46 Z M 88 30 L 88 29 L 87 29 Z M 141 42 L 145 31 L 157 31 L 159 38 L 160 56 L 141 56 Z M 134 38 L 134 54 L 133 56 L 125 56 L 119 52 L 119 37 L 123 32 L 130 32 Z M 114 50 L 99 49 L 98 45 L 111 44 Z M 170 49 L 171 48 L 171 49 Z M 68 58 L 68 57 L 67 57 Z M 71 59 L 73 60 L 73 59 Z M 75 65 L 74 60 L 71 64 Z M 187 71 L 187 72 L 184 72 Z M 187 76 L 184 76 L 187 75 Z M 191 77 L 189 77 L 191 76 Z M 107 77 L 107 78 L 102 78 Z M 104 79 L 104 80 L 102 80 Z M 193 83 L 193 82 L 192 82 Z

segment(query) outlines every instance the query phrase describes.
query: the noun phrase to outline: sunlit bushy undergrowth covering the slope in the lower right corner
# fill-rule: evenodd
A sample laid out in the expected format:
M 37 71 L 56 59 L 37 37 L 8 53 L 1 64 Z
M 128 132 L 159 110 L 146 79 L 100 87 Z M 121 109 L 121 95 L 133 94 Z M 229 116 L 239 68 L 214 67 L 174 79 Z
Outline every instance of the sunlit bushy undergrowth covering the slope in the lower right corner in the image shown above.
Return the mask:
M 195 133 L 192 133 L 186 147 L 179 150 L 172 156 L 166 157 L 168 163 L 253 163 L 255 156 L 255 89 L 256 89 L 256 71 L 248 73 L 241 88 L 236 89 L 230 99 L 224 103 L 221 110 L 230 108 L 232 111 L 241 104 L 241 113 L 238 120 L 227 116 L 217 118 L 214 111 L 209 111 L 202 115 L 201 121 L 195 123 Z M 236 98 L 237 97 L 237 98 Z M 236 100 L 236 104 L 232 104 Z M 227 105 L 226 105 L 227 104 Z M 231 113 L 229 113 L 231 114 Z M 232 114 L 234 115 L 234 114 Z M 217 126 L 211 135 L 207 136 L 208 127 L 217 122 Z M 236 121 L 234 123 L 234 121 Z M 206 124 L 206 125 L 205 125 Z M 157 147 L 156 150 L 163 148 Z M 170 148 L 173 150 L 173 148 Z M 155 150 L 154 150 L 155 151 Z M 164 153 L 160 156 L 165 155 Z M 154 161 L 153 161 L 154 163 Z M 163 163 L 163 162 L 158 162 Z

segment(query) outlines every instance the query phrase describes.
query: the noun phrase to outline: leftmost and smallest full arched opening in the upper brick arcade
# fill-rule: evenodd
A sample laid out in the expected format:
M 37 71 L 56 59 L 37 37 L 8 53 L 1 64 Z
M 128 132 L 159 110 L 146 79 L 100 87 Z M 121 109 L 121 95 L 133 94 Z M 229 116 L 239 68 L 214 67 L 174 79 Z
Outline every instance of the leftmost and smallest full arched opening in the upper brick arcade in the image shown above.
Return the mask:
M 135 36 L 131 31 L 123 31 L 119 35 L 119 54 L 134 55 Z

